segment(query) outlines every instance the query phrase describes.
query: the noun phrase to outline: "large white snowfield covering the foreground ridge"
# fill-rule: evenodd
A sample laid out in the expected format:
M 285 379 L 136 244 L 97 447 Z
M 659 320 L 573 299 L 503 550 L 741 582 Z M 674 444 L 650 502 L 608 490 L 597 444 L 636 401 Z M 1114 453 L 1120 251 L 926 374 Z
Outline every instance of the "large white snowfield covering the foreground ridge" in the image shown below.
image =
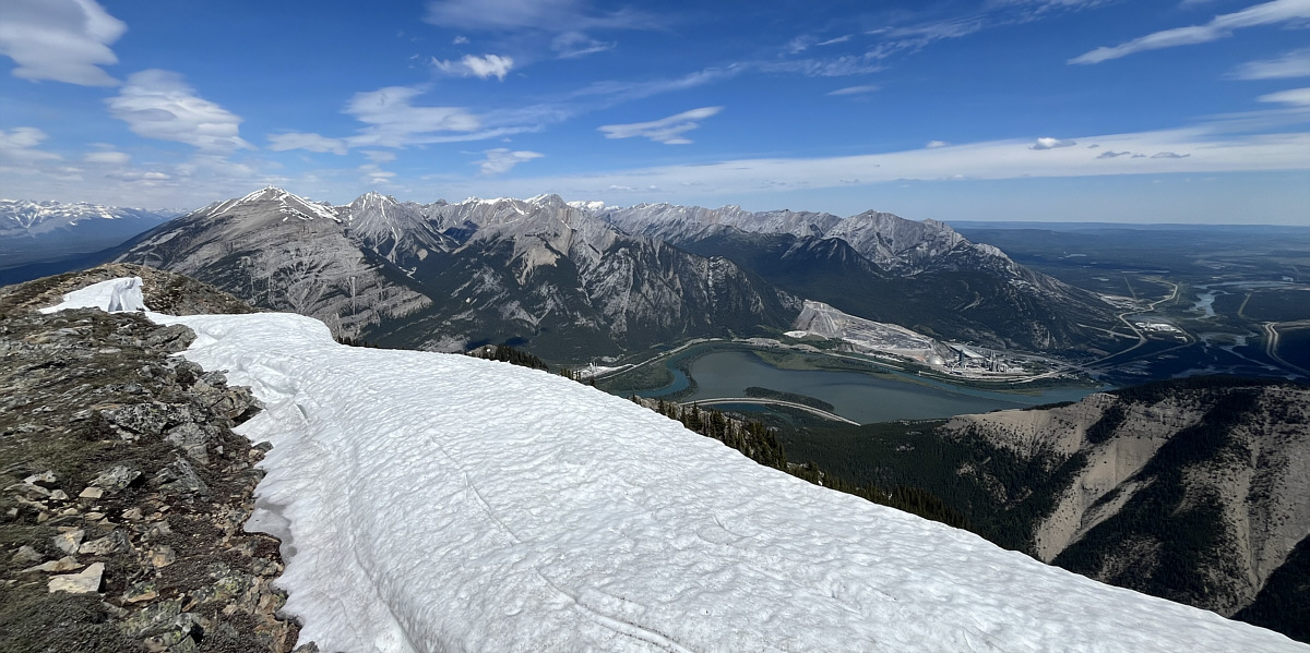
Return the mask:
M 291 314 L 152 319 L 265 403 L 238 428 L 272 444 L 246 527 L 295 544 L 284 610 L 322 650 L 1307 650 L 558 376 L 342 347 Z

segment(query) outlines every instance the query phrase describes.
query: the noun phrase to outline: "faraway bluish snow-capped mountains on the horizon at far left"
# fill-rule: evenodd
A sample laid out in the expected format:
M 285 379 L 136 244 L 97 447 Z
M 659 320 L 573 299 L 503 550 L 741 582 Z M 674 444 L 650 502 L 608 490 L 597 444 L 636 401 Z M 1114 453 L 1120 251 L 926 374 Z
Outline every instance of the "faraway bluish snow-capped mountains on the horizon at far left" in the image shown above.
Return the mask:
M 113 247 L 183 211 L 0 200 L 0 267 Z

